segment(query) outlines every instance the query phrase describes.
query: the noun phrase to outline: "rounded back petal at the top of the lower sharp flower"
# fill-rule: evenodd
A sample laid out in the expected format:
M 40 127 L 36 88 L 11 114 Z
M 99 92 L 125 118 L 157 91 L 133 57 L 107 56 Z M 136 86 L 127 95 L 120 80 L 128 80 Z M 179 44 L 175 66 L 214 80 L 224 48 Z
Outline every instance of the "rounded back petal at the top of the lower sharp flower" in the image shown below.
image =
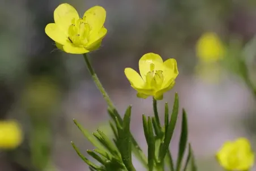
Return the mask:
M 139 72 L 143 80 L 146 80 L 147 72 L 151 69 L 151 63 L 155 65 L 155 70 L 163 70 L 163 59 L 155 53 L 144 54 L 139 59 Z

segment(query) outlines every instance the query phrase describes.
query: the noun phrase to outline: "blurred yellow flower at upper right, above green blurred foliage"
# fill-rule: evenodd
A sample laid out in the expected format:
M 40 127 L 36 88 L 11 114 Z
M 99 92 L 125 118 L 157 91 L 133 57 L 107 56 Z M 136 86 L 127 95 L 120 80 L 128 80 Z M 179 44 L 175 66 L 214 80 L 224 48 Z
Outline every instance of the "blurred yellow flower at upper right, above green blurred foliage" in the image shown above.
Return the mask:
M 224 46 L 216 33 L 204 33 L 197 42 L 197 57 L 202 62 L 219 61 L 224 55 Z

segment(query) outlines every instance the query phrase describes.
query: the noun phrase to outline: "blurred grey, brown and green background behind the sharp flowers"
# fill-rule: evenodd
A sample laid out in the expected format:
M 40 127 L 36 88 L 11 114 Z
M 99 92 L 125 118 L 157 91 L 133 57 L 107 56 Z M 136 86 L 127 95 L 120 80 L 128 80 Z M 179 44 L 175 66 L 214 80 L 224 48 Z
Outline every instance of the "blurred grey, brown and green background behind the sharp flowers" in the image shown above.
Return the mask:
M 89 57 L 120 113 L 133 105 L 131 131 L 145 152 L 142 113 L 152 115 L 152 99 L 136 98 L 123 70 L 138 70 L 139 58 L 148 52 L 177 60 L 176 86 L 159 102 L 159 113 L 163 119 L 164 102 L 172 106 L 178 92 L 199 170 L 221 170 L 215 153 L 226 140 L 244 136 L 256 150 L 255 0 L 2 0 L 0 119 L 15 121 L 3 134 L 20 138 L 12 147 L 0 144 L 1 171 L 88 170 L 70 142 L 84 154 L 93 147 L 72 118 L 112 136 L 106 103 L 82 55 L 56 50 L 44 32 L 54 9 L 65 2 L 80 15 L 95 5 L 106 9 L 108 34 Z M 179 119 L 173 156 L 180 125 Z

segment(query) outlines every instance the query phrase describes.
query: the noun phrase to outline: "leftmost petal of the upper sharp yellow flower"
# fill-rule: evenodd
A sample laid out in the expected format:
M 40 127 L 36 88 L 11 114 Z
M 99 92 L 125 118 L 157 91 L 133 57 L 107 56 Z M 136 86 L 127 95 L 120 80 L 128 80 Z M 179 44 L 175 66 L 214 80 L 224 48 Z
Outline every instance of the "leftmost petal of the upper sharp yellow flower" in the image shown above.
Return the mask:
M 55 23 L 47 24 L 45 27 L 45 33 L 50 37 L 50 39 L 58 42 L 59 44 L 64 45 L 67 42 L 65 33 L 63 33 Z

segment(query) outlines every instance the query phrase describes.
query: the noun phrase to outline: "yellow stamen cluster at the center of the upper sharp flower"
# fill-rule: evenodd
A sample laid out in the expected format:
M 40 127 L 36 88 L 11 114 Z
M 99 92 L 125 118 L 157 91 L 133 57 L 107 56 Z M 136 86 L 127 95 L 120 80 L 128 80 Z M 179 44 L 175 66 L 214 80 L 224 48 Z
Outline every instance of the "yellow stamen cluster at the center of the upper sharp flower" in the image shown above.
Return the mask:
M 89 24 L 86 23 L 86 19 L 72 20 L 72 24 L 69 27 L 69 40 L 76 46 L 85 46 L 87 44 L 89 32 Z

